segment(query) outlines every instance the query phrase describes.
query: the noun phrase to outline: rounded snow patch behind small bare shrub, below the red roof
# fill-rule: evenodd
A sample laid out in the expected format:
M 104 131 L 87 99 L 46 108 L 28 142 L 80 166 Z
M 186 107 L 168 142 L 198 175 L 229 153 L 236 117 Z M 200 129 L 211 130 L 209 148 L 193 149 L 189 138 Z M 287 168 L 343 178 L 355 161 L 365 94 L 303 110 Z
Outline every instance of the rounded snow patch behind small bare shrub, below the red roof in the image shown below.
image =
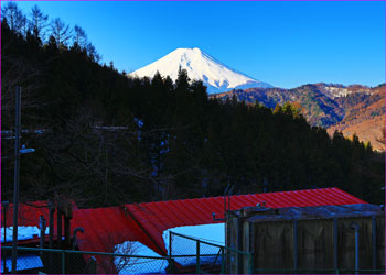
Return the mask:
M 114 253 L 161 257 L 160 254 L 137 241 L 126 241 L 121 244 L 117 244 Z M 116 256 L 114 264 L 119 274 L 165 273 L 168 260 Z

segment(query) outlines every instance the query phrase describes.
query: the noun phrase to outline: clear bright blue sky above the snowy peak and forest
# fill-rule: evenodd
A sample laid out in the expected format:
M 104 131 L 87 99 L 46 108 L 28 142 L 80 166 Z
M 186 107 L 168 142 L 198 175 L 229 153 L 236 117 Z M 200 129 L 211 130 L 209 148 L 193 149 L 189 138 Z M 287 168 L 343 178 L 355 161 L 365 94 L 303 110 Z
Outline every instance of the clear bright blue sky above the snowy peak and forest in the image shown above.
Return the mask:
M 385 81 L 385 2 L 37 3 L 51 19 L 81 25 L 103 62 L 132 72 L 178 47 L 200 47 L 274 86 Z

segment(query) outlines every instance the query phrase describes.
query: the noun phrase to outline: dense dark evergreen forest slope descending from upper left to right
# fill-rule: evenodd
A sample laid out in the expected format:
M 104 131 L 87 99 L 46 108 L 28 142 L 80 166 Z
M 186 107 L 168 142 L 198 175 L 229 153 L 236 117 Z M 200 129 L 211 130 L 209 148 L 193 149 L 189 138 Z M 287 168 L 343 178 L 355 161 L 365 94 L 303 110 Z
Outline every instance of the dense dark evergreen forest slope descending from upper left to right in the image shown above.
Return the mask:
M 23 129 L 43 130 L 22 136 L 35 148 L 21 160 L 23 200 L 61 194 L 110 206 L 218 196 L 230 184 L 238 194 L 340 187 L 382 204 L 383 155 L 356 136 L 331 139 L 291 105 L 208 99 L 183 69 L 175 82 L 129 78 L 99 64 L 82 28 L 68 36 L 57 19 L 50 31 L 34 9 L 35 20 L 15 7 L 1 22 L 1 128 L 13 128 L 20 85 Z M 13 140 L 1 146 L 2 199 L 11 200 Z

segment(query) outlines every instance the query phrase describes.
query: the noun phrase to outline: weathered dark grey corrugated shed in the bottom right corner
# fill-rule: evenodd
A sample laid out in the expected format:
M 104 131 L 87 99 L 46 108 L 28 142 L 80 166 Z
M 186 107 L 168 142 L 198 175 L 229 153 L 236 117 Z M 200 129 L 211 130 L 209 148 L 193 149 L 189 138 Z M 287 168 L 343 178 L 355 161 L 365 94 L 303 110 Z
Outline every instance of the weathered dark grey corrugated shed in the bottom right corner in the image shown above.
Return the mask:
M 356 250 L 358 268 L 385 268 L 385 211 L 376 205 L 246 207 L 229 215 L 227 227 L 232 232 L 227 246 L 254 252 L 254 267 L 261 273 L 269 268 L 354 272 Z M 237 258 L 229 273 L 248 271 L 248 263 L 246 256 Z

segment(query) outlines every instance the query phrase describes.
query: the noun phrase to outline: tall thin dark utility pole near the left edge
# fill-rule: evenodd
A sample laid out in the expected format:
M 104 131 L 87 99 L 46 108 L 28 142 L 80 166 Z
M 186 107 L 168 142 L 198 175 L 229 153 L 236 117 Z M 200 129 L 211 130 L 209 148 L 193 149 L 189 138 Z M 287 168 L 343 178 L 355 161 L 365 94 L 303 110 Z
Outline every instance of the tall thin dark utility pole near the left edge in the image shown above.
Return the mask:
M 20 172 L 20 121 L 21 88 L 17 86 L 14 122 L 14 182 L 13 182 L 13 237 L 12 237 L 12 273 L 17 273 L 18 261 L 18 209 L 19 209 L 19 172 Z

